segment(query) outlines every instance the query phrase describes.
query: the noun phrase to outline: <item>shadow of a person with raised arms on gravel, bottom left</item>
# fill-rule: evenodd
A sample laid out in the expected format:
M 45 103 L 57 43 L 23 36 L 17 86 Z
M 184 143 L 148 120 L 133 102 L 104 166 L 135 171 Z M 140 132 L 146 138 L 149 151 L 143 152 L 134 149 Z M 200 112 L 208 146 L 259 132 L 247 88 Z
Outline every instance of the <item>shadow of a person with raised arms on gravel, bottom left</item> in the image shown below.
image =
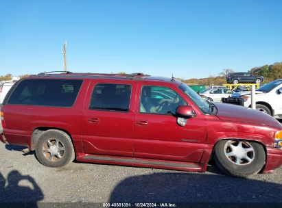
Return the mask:
M 37 207 L 43 198 L 42 190 L 29 175 L 12 170 L 5 179 L 0 172 L 0 207 Z

